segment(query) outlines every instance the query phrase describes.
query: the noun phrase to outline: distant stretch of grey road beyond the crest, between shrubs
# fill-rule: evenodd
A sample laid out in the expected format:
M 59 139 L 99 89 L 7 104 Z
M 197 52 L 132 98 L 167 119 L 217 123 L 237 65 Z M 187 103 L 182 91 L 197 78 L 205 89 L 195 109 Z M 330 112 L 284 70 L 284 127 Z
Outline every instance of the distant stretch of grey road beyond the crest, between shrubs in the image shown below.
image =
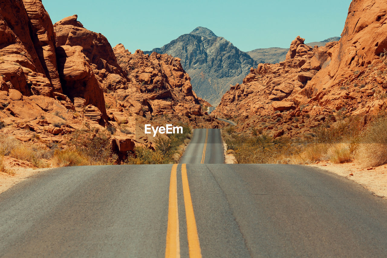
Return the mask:
M 180 164 L 222 164 L 223 141 L 219 129 L 195 129 L 193 138 L 180 159 Z

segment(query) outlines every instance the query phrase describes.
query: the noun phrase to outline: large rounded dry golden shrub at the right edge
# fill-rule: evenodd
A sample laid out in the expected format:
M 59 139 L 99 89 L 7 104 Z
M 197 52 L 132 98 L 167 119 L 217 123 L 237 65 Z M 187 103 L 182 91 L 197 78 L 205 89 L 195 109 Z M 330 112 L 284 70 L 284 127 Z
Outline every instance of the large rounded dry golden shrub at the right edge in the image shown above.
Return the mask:
M 387 163 L 387 117 L 380 115 L 360 136 L 356 158 L 364 167 Z

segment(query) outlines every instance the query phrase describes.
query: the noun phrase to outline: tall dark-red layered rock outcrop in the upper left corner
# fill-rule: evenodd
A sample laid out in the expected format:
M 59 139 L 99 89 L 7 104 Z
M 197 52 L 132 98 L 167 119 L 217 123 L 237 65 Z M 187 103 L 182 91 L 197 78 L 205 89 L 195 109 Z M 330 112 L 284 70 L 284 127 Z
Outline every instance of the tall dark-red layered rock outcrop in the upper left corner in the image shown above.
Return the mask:
M 41 2 L 0 3 L 0 73 L 7 82 L 1 89 L 25 96 L 62 93 L 52 23 Z

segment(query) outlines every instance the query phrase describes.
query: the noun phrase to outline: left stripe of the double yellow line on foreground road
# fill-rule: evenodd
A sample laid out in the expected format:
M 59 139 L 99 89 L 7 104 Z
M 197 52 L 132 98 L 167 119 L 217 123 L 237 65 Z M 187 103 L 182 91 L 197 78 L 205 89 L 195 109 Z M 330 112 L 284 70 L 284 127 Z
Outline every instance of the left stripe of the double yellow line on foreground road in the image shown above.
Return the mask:
M 166 258 L 180 258 L 179 215 L 177 210 L 177 164 L 172 166 L 168 208 Z

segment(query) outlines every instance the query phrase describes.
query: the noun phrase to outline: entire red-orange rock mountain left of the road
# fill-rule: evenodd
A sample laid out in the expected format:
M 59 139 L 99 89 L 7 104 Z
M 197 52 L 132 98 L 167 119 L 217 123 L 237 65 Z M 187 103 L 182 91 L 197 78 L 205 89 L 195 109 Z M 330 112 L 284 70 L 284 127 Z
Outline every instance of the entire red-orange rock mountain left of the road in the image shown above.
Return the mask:
M 66 148 L 77 129 L 110 130 L 111 150 L 124 160 L 134 146 L 153 148 L 139 119 L 219 126 L 202 111 L 209 103 L 192 91 L 179 58 L 113 50 L 77 15 L 53 24 L 41 0 L 0 3 L 0 137 L 44 139 L 47 150 Z

